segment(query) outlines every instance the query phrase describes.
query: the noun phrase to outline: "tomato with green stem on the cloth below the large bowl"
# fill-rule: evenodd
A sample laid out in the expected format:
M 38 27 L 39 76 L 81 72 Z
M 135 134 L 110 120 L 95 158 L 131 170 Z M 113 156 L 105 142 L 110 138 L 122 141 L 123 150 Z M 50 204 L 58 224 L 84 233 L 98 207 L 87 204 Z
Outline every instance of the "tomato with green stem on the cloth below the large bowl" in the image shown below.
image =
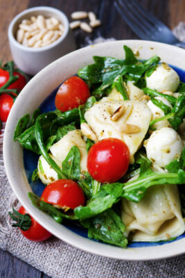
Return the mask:
M 21 206 L 19 211 L 15 211 L 13 208 L 14 214 L 9 212 L 10 217 L 15 220 L 17 223 L 12 224 L 12 227 L 19 227 L 21 234 L 26 238 L 33 241 L 43 241 L 52 236 L 52 234 L 44 229 L 31 215 L 28 214 L 28 211 Z

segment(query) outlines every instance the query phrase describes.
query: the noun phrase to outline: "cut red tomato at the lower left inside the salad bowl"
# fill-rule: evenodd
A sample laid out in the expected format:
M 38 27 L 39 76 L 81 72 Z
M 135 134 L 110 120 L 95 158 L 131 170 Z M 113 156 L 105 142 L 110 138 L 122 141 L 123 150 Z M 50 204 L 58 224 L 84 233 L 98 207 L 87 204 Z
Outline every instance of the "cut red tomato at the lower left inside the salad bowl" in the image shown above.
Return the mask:
M 59 208 L 73 209 L 85 204 L 85 195 L 82 188 L 71 179 L 59 179 L 50 183 L 44 189 L 40 199 Z

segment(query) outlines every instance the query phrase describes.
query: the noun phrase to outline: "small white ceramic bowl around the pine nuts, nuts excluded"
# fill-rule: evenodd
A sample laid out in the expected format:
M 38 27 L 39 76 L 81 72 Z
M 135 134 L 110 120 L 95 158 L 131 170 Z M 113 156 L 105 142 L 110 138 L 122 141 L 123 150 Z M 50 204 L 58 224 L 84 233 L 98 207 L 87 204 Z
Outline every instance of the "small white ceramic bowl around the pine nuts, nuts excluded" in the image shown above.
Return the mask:
M 17 42 L 15 34 L 21 21 L 23 19 L 30 19 L 33 15 L 44 15 L 44 17 L 53 16 L 57 18 L 64 25 L 64 33 L 58 40 L 55 40 L 55 42 L 46 47 L 37 49 L 25 47 Z M 49 65 L 53 60 L 76 49 L 73 33 L 69 28 L 69 21 L 66 15 L 60 10 L 51 7 L 35 7 L 19 13 L 10 23 L 8 28 L 8 40 L 12 58 L 17 67 L 30 75 L 37 74 L 37 72 L 46 67 L 46 65 Z

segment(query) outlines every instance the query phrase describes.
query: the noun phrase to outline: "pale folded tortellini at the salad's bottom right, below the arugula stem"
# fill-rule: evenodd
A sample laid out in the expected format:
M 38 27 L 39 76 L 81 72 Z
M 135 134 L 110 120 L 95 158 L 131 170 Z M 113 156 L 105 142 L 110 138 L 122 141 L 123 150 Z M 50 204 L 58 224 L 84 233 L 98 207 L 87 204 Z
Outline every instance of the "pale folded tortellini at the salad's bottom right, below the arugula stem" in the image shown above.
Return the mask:
M 176 185 L 152 186 L 139 203 L 122 199 L 121 218 L 133 241 L 169 240 L 184 233 Z

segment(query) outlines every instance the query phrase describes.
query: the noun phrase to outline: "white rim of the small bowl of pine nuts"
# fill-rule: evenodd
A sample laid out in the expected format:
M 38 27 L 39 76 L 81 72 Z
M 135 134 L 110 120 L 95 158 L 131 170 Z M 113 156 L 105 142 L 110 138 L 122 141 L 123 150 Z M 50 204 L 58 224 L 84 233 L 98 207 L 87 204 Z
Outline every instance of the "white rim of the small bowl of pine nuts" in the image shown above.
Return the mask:
M 35 11 L 40 11 L 41 14 L 43 11 L 51 11 L 52 13 L 58 14 L 60 16 L 60 18 L 62 19 L 62 21 L 64 22 L 64 33 L 60 36 L 60 38 L 58 38 L 58 40 L 55 40 L 55 42 L 52 42 L 49 45 L 46 45 L 46 47 L 39 47 L 39 48 L 26 47 L 23 44 L 20 44 L 19 42 L 17 42 L 14 35 L 12 34 L 12 29 L 15 26 L 15 24 L 17 23 L 17 21 L 19 21 L 19 18 L 22 17 L 23 15 L 28 15 L 29 13 L 32 13 Z M 16 45 L 17 48 L 24 50 L 24 51 L 26 50 L 28 52 L 33 52 L 33 53 L 47 51 L 47 50 L 55 47 L 56 45 L 60 44 L 60 42 L 62 42 L 62 40 L 64 40 L 67 37 L 68 33 L 69 33 L 69 20 L 67 19 L 67 16 L 61 10 L 58 10 L 57 8 L 51 8 L 49 6 L 39 6 L 39 7 L 34 7 L 34 8 L 28 8 L 28 9 L 22 11 L 21 13 L 19 13 L 18 15 L 16 15 L 10 22 L 10 25 L 8 26 L 9 40 L 12 41 Z

